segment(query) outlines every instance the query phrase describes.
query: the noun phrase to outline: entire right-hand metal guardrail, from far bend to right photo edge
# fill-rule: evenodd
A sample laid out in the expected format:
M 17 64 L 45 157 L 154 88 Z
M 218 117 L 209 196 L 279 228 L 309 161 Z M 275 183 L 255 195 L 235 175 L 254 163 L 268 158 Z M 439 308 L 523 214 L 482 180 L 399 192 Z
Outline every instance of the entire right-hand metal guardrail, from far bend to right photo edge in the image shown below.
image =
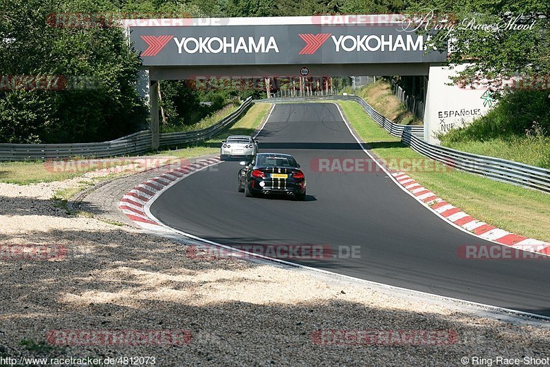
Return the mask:
M 393 136 L 401 138 L 401 141 L 412 150 L 424 156 L 443 162 L 456 169 L 478 174 L 492 180 L 508 182 L 513 185 L 530 187 L 550 193 L 550 169 L 544 169 L 524 163 L 514 162 L 501 158 L 478 156 L 440 145 L 427 143 L 423 140 L 423 126 L 398 125 L 378 113 L 369 103 L 363 101 L 360 96 L 322 96 L 322 97 L 296 97 L 296 98 L 270 98 L 256 100 L 257 102 L 285 102 L 285 101 L 319 101 L 319 100 L 345 100 L 359 103 L 365 112 L 369 114 L 380 126 L 388 130 Z

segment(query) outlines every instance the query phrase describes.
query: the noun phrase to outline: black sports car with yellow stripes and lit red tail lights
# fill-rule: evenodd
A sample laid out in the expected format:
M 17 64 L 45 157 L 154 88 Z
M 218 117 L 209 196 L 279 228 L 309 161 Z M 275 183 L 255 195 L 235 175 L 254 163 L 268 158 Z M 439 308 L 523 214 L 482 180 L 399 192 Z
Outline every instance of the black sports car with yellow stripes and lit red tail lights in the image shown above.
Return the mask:
M 247 198 L 260 194 L 282 193 L 305 199 L 305 176 L 300 165 L 289 154 L 261 153 L 252 161 L 241 162 L 239 192 Z

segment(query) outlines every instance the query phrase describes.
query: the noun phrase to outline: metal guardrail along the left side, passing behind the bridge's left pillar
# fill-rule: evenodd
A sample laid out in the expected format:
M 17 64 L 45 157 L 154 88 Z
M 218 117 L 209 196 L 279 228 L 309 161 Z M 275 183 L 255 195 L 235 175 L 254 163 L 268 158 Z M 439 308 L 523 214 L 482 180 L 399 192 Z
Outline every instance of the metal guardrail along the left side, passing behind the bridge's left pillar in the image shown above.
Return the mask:
M 160 134 L 160 145 L 170 146 L 194 143 L 211 138 L 225 127 L 234 123 L 252 105 L 247 98 L 238 109 L 222 118 L 218 123 L 192 132 Z M 55 160 L 71 157 L 104 158 L 125 154 L 141 154 L 151 150 L 151 132 L 136 132 L 103 143 L 76 144 L 9 144 L 0 143 L 0 161 L 9 160 Z

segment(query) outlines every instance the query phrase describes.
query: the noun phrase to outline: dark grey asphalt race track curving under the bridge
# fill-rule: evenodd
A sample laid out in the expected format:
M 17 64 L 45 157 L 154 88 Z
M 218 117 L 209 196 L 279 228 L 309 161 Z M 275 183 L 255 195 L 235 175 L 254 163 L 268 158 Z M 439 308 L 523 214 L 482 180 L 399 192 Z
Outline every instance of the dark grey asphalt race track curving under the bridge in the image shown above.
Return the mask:
M 257 137 L 260 151 L 296 157 L 307 198 L 245 198 L 239 162 L 181 180 L 151 206 L 170 227 L 214 242 L 360 247 L 360 257 L 291 260 L 407 289 L 550 316 L 550 261 L 465 260 L 464 244 L 492 244 L 452 227 L 384 172 L 318 172 L 318 158 L 368 158 L 336 105 L 276 105 Z M 342 252 L 343 253 L 343 252 Z

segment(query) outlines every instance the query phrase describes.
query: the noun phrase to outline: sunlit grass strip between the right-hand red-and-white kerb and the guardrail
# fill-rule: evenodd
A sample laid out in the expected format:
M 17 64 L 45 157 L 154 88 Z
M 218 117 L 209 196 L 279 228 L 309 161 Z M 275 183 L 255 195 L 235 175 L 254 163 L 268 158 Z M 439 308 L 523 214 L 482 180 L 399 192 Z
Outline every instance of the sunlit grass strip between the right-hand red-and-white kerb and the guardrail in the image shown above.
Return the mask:
M 355 132 L 384 160 L 427 160 L 382 129 L 351 101 L 337 102 Z M 428 165 L 429 167 L 429 165 Z M 450 204 L 498 228 L 550 242 L 550 195 L 463 171 L 400 169 Z

